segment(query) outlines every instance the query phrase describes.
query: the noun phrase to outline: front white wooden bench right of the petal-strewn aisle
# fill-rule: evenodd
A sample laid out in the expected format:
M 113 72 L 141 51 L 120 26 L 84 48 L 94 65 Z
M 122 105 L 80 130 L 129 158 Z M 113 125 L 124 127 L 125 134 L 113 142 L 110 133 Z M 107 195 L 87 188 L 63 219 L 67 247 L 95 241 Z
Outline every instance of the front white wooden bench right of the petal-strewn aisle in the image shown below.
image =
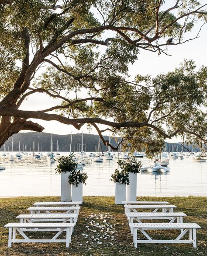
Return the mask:
M 138 243 L 192 243 L 196 248 L 196 228 L 200 226 L 196 223 L 130 223 L 130 228 L 133 228 L 133 238 L 135 247 Z M 155 240 L 152 239 L 144 229 L 158 230 L 158 229 L 184 229 L 183 232 L 173 240 Z M 147 239 L 137 239 L 137 231 L 141 231 Z M 180 240 L 183 235 L 189 231 L 189 240 Z

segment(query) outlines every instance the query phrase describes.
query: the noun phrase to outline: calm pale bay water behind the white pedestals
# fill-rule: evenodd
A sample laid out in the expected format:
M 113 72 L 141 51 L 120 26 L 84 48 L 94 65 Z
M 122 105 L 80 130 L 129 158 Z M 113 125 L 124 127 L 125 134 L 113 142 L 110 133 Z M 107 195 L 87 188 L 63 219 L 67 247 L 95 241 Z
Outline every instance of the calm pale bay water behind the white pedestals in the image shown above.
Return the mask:
M 60 175 L 55 174 L 57 163 L 51 164 L 47 156 L 23 155 L 21 160 L 14 157 L 13 162 L 9 158 L 9 155 L 0 156 L 0 165 L 6 167 L 0 171 L 0 196 L 60 196 Z M 149 165 L 147 158 L 140 160 L 143 166 Z M 207 196 L 207 162 L 195 162 L 190 156 L 183 160 L 170 159 L 169 167 L 166 173 L 139 173 L 138 196 Z M 114 196 L 115 184 L 109 179 L 115 168 L 114 160 L 96 163 L 88 157 L 84 167 L 88 179 L 83 195 Z

